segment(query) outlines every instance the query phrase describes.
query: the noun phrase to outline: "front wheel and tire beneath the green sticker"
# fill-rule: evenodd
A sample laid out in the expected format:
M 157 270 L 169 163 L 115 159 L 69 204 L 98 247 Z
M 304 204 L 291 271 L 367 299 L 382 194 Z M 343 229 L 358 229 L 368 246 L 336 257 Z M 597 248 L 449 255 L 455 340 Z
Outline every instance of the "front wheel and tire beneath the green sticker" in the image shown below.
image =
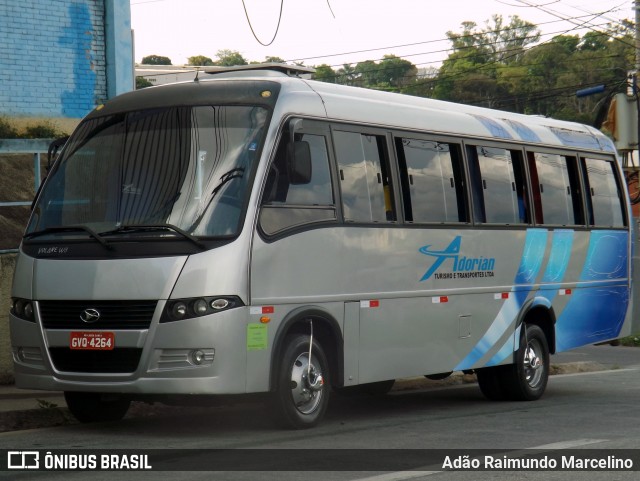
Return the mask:
M 278 366 L 273 409 L 283 427 L 308 429 L 316 426 L 329 404 L 329 364 L 322 346 L 313 341 L 311 376 L 309 372 L 309 336 L 295 335 L 285 340 Z

